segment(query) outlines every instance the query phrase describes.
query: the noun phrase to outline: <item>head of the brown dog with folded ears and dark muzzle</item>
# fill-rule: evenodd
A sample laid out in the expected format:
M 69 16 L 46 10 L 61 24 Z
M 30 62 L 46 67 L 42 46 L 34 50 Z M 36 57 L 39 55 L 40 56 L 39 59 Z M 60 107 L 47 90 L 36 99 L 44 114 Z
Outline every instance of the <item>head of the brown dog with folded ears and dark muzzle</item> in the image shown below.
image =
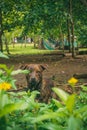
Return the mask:
M 47 65 L 43 64 L 25 64 L 21 65 L 21 69 L 29 70 L 29 73 L 26 75 L 27 84 L 29 89 L 39 90 L 40 84 L 42 82 L 42 72 L 47 68 Z

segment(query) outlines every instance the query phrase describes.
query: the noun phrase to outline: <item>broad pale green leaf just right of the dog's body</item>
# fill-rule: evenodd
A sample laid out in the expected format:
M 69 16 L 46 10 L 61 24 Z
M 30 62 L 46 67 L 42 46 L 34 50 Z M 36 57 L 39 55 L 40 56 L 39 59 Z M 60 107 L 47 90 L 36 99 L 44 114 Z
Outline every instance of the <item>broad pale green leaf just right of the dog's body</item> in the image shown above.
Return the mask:
M 66 101 L 67 101 L 67 99 L 68 99 L 68 96 L 69 96 L 68 93 L 66 93 L 66 92 L 63 91 L 62 89 L 56 88 L 56 87 L 52 88 L 52 90 L 57 94 L 57 96 L 60 97 L 60 99 L 61 99 L 64 103 L 66 103 Z

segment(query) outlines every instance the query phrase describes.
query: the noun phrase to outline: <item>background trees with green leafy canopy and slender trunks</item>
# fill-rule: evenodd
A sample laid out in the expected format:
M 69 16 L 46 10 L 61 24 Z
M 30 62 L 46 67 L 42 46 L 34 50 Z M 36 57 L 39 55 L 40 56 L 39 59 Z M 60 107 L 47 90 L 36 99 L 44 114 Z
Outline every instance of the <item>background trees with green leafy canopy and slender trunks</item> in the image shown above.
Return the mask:
M 51 39 L 61 43 L 67 39 L 69 52 L 75 56 L 78 47 L 87 47 L 87 1 L 86 0 L 1 0 L 0 1 L 0 51 L 14 38 Z M 67 44 L 66 43 L 66 44 Z M 41 46 L 39 46 L 41 47 Z

